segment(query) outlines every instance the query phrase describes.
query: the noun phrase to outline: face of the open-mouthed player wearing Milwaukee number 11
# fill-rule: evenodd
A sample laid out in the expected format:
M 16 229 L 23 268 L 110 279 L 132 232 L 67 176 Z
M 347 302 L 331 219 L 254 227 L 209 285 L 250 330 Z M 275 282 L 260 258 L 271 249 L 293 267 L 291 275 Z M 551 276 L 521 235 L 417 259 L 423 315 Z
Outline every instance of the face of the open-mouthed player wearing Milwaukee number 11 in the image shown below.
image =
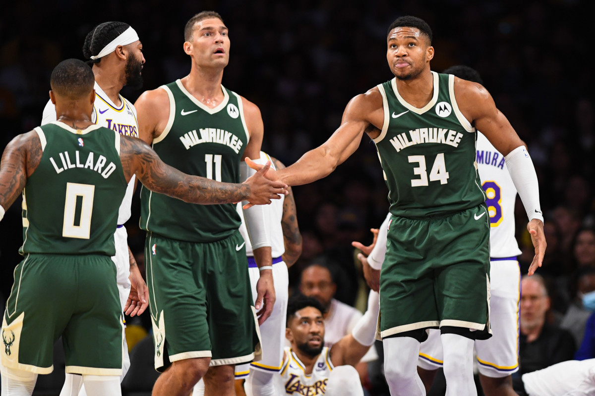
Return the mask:
M 225 67 L 229 62 L 227 27 L 218 18 L 207 18 L 195 24 L 192 40 L 184 43 L 184 51 L 198 66 Z

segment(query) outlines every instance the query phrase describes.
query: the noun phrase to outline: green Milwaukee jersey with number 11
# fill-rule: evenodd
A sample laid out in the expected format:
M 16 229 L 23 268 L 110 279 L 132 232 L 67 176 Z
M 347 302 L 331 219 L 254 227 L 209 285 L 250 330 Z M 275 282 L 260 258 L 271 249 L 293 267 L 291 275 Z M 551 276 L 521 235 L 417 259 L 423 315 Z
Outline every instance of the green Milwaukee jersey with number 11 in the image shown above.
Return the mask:
M 223 102 L 209 109 L 180 80 L 161 88 L 170 98 L 167 126 L 153 141 L 161 160 L 188 175 L 239 183 L 240 160 L 249 139 L 240 96 L 221 86 Z M 140 198 L 140 227 L 167 238 L 212 242 L 240 227 L 234 204 L 188 204 L 146 188 Z

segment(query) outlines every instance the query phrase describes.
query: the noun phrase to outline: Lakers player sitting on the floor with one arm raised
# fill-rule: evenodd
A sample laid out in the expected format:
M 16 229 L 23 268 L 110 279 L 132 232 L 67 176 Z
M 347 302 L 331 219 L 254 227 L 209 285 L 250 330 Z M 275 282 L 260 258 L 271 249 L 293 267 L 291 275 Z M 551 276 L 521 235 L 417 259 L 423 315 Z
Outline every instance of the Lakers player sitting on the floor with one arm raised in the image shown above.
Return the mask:
M 368 310 L 351 334 L 331 347 L 324 346 L 324 308 L 314 297 L 296 296 L 287 307 L 286 347 L 281 366 L 283 391 L 287 395 L 364 395 L 359 363 L 374 344 L 378 320 L 378 293 L 370 292 Z

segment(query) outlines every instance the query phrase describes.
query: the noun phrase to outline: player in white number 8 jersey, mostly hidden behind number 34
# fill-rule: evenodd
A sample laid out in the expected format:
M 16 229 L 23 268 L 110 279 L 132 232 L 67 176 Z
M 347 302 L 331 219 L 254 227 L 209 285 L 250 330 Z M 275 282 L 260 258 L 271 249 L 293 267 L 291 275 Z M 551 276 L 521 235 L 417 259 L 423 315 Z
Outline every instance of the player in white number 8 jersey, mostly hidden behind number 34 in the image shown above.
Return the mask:
M 483 84 L 477 71 L 453 66 L 444 71 L 474 83 Z M 511 374 L 518 371 L 518 321 L 521 273 L 516 256 L 521 254 L 515 239 L 516 188 L 504 156 L 477 134 L 477 166 L 486 192 L 490 217 L 490 324 L 493 337 L 475 341 L 480 381 L 486 396 L 515 396 Z M 421 343 L 418 371 L 429 391 L 436 369 L 442 366 L 440 332 L 430 330 Z

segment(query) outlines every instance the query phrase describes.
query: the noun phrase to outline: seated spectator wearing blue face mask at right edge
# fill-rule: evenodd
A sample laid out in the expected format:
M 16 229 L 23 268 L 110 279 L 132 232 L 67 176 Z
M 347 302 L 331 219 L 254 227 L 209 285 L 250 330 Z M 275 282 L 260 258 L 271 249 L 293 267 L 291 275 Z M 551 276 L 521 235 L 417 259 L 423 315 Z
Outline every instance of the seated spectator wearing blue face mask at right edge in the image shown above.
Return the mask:
M 583 341 L 587 319 L 595 311 L 595 268 L 581 268 L 575 278 L 571 291 L 574 298 L 560 321 L 560 327 L 571 332 L 579 345 Z

